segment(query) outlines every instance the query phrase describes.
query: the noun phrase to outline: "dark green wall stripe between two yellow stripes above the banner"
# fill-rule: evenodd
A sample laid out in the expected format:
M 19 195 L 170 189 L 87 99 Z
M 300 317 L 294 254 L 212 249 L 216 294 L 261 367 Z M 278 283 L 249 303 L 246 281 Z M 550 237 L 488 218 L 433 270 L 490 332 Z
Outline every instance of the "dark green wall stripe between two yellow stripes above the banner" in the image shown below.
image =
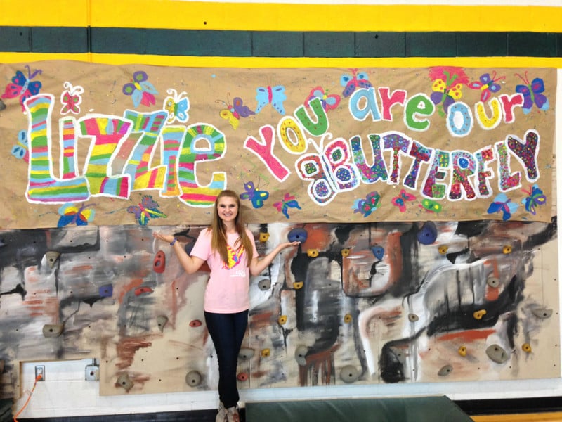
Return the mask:
M 562 57 L 540 32 L 287 32 L 0 26 L 0 51 L 225 57 Z

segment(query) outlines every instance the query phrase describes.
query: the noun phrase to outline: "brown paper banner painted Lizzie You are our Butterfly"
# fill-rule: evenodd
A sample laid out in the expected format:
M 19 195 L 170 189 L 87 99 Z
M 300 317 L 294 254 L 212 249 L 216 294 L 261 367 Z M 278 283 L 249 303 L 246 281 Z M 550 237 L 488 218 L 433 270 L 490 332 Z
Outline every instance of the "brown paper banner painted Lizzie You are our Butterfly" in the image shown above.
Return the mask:
M 556 70 L 2 65 L 4 228 L 552 215 Z M 547 206 L 544 206 L 547 205 Z

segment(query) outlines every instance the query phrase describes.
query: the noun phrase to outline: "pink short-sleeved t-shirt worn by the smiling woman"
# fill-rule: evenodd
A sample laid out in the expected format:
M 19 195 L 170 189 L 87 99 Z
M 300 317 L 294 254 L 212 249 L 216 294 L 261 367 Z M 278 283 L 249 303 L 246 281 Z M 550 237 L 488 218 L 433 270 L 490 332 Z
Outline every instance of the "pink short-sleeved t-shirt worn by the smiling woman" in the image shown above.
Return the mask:
M 254 257 L 258 256 L 254 235 L 246 229 L 254 248 Z M 233 314 L 249 309 L 249 269 L 244 248 L 238 248 L 235 242 L 237 233 L 227 234 L 228 265 L 218 252 L 211 250 L 211 229 L 201 231 L 191 255 L 207 261 L 211 276 L 205 289 L 204 310 L 216 314 Z

